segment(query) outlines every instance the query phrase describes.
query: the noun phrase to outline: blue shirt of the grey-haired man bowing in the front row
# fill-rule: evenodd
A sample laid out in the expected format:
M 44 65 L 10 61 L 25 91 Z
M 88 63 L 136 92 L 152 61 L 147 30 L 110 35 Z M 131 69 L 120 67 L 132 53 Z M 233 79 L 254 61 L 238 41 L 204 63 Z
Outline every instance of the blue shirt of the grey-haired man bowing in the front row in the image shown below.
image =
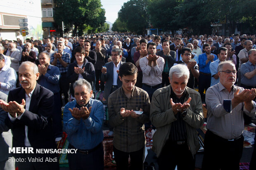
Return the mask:
M 69 108 L 80 108 L 76 100 L 68 102 L 63 112 L 63 129 L 67 133 L 67 139 L 76 149 L 92 149 L 95 148 L 103 140 L 102 122 L 104 117 L 103 104 L 99 100 L 90 98 L 89 108 L 92 106 L 90 116 L 83 120 L 73 118 Z

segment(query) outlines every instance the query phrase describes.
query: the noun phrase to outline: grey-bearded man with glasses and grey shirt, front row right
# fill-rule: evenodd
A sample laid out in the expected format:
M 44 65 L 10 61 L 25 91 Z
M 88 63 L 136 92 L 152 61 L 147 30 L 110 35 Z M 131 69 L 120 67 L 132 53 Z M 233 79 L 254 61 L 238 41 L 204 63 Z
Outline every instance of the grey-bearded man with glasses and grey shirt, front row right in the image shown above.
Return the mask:
M 239 170 L 244 141 L 243 113 L 255 115 L 256 88 L 235 86 L 236 73 L 232 61 L 221 62 L 220 82 L 206 91 L 208 113 L 202 170 Z

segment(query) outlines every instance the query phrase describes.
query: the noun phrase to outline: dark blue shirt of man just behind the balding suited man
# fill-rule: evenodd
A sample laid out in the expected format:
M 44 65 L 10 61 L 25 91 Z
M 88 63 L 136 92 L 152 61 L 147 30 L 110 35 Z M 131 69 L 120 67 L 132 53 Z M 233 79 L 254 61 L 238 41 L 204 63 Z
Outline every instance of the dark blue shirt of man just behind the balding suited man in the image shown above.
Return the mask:
M 58 93 L 60 72 L 59 68 L 54 65 L 48 65 L 45 75 L 41 75 L 38 79 L 38 84 L 52 91 L 52 93 Z

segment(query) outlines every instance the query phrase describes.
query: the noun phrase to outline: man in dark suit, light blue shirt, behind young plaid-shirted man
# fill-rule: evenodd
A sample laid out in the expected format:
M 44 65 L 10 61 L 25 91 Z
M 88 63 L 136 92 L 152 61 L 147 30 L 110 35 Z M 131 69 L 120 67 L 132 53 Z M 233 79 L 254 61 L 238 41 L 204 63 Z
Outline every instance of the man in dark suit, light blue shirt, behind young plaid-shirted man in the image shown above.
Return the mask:
M 123 64 L 121 49 L 112 49 L 111 58 L 112 61 L 105 64 L 105 68 L 102 68 L 101 79 L 106 82 L 103 97 L 108 100 L 109 95 L 113 93 L 117 88 L 122 86 L 122 82 L 118 78 L 118 73 L 120 66 Z M 114 77 L 115 75 L 115 77 Z

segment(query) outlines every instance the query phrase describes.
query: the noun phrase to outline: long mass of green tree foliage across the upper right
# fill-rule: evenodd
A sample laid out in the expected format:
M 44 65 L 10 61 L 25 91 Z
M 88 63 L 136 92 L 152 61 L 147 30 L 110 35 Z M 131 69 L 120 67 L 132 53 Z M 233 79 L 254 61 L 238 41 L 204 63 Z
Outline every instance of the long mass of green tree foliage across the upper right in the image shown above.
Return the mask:
M 123 4 L 112 30 L 144 32 L 149 15 L 152 27 L 164 31 L 189 28 L 199 34 L 211 23 L 225 23 L 231 33 L 236 23 L 252 30 L 256 27 L 254 4 L 255 0 L 130 0 Z

